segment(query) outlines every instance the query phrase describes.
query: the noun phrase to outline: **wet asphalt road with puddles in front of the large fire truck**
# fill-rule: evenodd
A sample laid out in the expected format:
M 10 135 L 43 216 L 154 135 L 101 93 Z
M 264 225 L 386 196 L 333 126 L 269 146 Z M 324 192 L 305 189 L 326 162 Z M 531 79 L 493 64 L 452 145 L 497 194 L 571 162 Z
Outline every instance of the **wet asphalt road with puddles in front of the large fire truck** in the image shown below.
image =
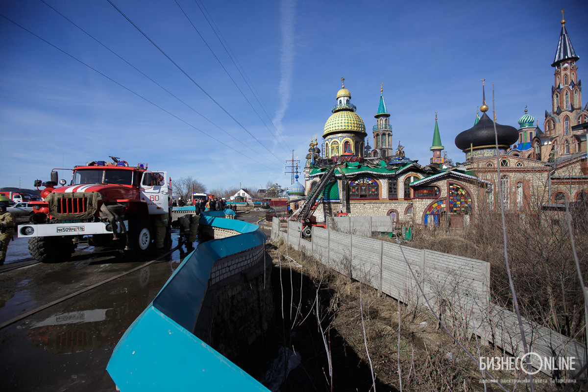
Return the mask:
M 238 213 L 257 223 L 264 212 Z M 269 236 L 269 232 L 268 233 Z M 172 233 L 173 247 L 178 233 Z M 0 324 L 155 259 L 79 246 L 70 262 L 37 263 L 15 239 L 0 266 Z M 189 253 L 185 246 L 135 272 L 0 329 L 0 390 L 116 391 L 106 364 L 122 334 Z

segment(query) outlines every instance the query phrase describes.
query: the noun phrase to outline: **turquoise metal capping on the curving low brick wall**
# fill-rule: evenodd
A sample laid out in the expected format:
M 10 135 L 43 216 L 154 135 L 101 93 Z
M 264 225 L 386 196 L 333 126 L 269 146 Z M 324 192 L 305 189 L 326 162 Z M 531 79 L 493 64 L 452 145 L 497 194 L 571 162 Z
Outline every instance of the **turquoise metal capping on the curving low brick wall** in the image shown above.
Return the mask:
M 263 244 L 267 237 L 240 220 L 201 215 L 200 223 L 240 234 L 200 244 L 125 332 L 106 367 L 123 392 L 268 391 L 192 334 L 216 260 Z

